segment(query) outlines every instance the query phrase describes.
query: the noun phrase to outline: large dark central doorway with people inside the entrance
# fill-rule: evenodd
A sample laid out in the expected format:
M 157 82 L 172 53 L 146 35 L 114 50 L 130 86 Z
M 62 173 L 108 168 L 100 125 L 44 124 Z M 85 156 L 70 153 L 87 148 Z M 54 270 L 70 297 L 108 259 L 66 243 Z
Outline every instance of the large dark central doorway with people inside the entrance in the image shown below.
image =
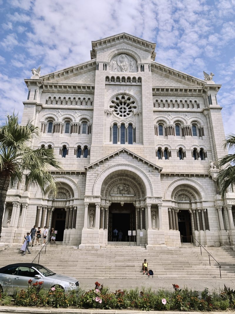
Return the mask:
M 113 230 L 122 231 L 122 240 L 129 241 L 128 230 L 136 230 L 136 213 L 132 203 L 112 203 L 109 207 L 108 217 L 108 241 L 113 241 Z M 136 237 L 130 237 L 130 241 L 136 241 Z M 117 237 L 118 241 L 118 237 Z

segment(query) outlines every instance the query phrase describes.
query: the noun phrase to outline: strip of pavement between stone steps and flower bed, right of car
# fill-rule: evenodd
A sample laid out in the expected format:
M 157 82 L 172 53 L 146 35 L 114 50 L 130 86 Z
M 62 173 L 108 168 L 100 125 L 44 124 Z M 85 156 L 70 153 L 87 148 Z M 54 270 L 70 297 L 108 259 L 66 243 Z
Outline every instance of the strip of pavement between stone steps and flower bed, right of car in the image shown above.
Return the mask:
M 144 275 L 143 275 L 144 276 Z M 146 276 L 146 275 L 145 275 Z M 98 279 L 100 284 L 107 285 L 111 291 L 115 291 L 118 289 L 125 289 L 125 288 L 135 288 L 139 287 L 141 289 L 142 286 L 144 287 L 152 287 L 153 289 L 163 288 L 169 289 L 173 291 L 172 284 L 178 284 L 180 288 L 183 286 L 187 286 L 189 288 L 195 289 L 199 292 L 204 290 L 204 288 L 208 288 L 210 291 L 218 288 L 224 288 L 224 284 L 231 289 L 234 290 L 235 288 L 235 279 L 158 279 L 158 278 L 143 278 L 142 280 L 139 279 Z M 95 281 L 97 279 L 79 279 L 81 288 L 85 290 L 89 290 L 94 288 Z

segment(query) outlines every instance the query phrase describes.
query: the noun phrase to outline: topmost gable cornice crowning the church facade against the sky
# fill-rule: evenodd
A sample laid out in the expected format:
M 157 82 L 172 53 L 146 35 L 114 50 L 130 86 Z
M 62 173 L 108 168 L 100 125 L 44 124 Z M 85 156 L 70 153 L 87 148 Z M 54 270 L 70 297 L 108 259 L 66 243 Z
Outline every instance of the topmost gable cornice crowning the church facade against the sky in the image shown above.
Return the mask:
M 150 41 L 146 41 L 142 38 L 130 35 L 128 33 L 120 33 L 117 35 L 99 39 L 97 41 L 91 41 L 91 45 L 92 45 L 91 59 L 96 58 L 97 50 L 102 50 L 102 49 L 107 49 L 113 46 L 117 46 L 117 45 L 122 44 L 123 42 L 132 47 L 149 52 L 151 54 L 151 59 L 155 60 L 156 44 Z

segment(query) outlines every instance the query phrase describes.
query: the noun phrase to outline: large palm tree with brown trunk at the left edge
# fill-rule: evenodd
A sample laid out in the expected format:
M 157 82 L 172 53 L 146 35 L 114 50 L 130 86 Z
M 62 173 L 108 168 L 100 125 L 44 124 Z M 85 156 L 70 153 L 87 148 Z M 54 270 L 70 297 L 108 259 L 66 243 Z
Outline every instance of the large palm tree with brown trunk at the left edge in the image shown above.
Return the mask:
M 55 181 L 48 171 L 50 166 L 63 170 L 52 149 L 33 149 L 31 141 L 39 136 L 39 128 L 30 121 L 19 125 L 18 114 L 6 117 L 0 127 L 0 238 L 2 232 L 3 210 L 8 188 L 22 182 L 27 173 L 26 185 L 37 185 L 42 193 L 50 186 L 57 191 Z

